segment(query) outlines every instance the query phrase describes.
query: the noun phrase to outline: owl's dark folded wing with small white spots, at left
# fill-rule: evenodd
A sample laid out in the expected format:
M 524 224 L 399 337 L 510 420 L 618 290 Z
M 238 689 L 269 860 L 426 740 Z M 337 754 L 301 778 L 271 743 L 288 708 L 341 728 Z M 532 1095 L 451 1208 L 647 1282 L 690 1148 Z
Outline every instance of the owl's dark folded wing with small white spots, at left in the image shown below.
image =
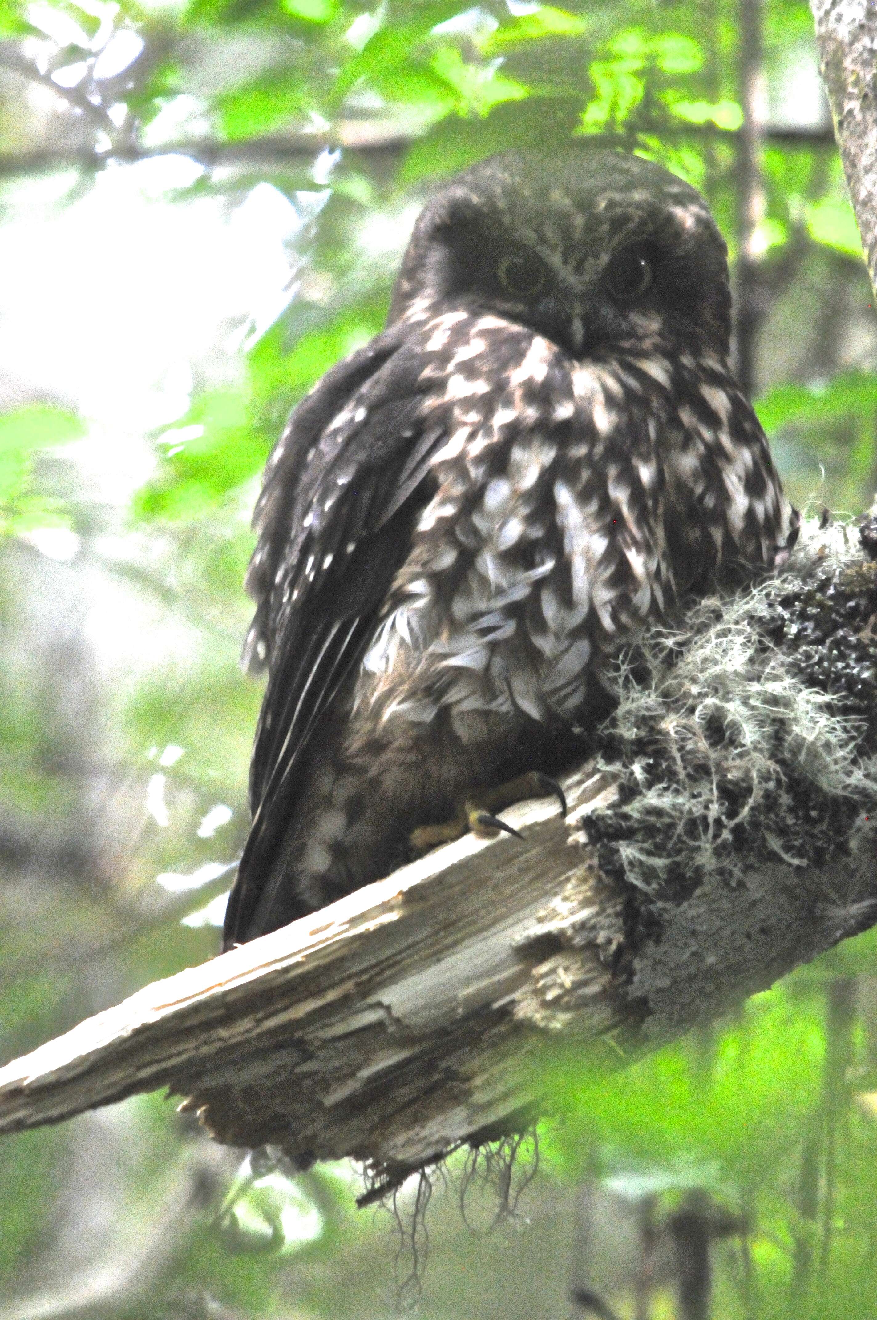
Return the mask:
M 302 752 L 362 653 L 431 496 L 429 462 L 445 425 L 427 405 L 417 338 L 394 326 L 329 371 L 293 412 L 265 470 L 244 659 L 267 663 L 269 678 L 226 948 L 246 936 L 292 812 Z

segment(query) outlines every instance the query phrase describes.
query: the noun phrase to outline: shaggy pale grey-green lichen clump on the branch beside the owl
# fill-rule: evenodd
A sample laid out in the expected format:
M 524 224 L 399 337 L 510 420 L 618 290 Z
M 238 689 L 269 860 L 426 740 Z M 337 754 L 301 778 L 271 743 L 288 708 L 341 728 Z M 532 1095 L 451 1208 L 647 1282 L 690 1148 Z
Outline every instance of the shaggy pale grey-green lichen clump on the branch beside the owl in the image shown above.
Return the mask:
M 873 834 L 877 565 L 862 544 L 849 524 L 806 521 L 781 574 L 703 599 L 619 661 L 600 758 L 621 801 L 588 829 L 604 874 L 678 899 Z

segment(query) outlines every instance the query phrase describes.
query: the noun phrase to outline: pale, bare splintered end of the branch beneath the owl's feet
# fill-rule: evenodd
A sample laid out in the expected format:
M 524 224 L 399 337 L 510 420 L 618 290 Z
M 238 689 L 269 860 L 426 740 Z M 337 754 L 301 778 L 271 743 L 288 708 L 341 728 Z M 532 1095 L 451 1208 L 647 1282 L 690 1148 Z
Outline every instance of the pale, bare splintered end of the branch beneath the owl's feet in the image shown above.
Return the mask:
M 575 1024 L 600 1053 L 631 1015 L 605 939 L 618 902 L 580 842 L 613 788 L 588 770 L 564 787 L 565 824 L 553 799 L 520 804 L 523 842 L 466 836 L 9 1064 L 0 1130 L 158 1086 L 219 1140 L 302 1163 L 416 1167 L 514 1126 L 545 1031 Z

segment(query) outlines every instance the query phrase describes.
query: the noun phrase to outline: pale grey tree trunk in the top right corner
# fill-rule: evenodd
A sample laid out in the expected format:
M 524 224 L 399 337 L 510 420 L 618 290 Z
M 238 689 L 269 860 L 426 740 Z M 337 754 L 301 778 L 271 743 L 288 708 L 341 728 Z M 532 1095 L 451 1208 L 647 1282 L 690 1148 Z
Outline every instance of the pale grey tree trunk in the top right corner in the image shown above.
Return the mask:
M 840 158 L 877 292 L 877 5 L 810 0 Z

